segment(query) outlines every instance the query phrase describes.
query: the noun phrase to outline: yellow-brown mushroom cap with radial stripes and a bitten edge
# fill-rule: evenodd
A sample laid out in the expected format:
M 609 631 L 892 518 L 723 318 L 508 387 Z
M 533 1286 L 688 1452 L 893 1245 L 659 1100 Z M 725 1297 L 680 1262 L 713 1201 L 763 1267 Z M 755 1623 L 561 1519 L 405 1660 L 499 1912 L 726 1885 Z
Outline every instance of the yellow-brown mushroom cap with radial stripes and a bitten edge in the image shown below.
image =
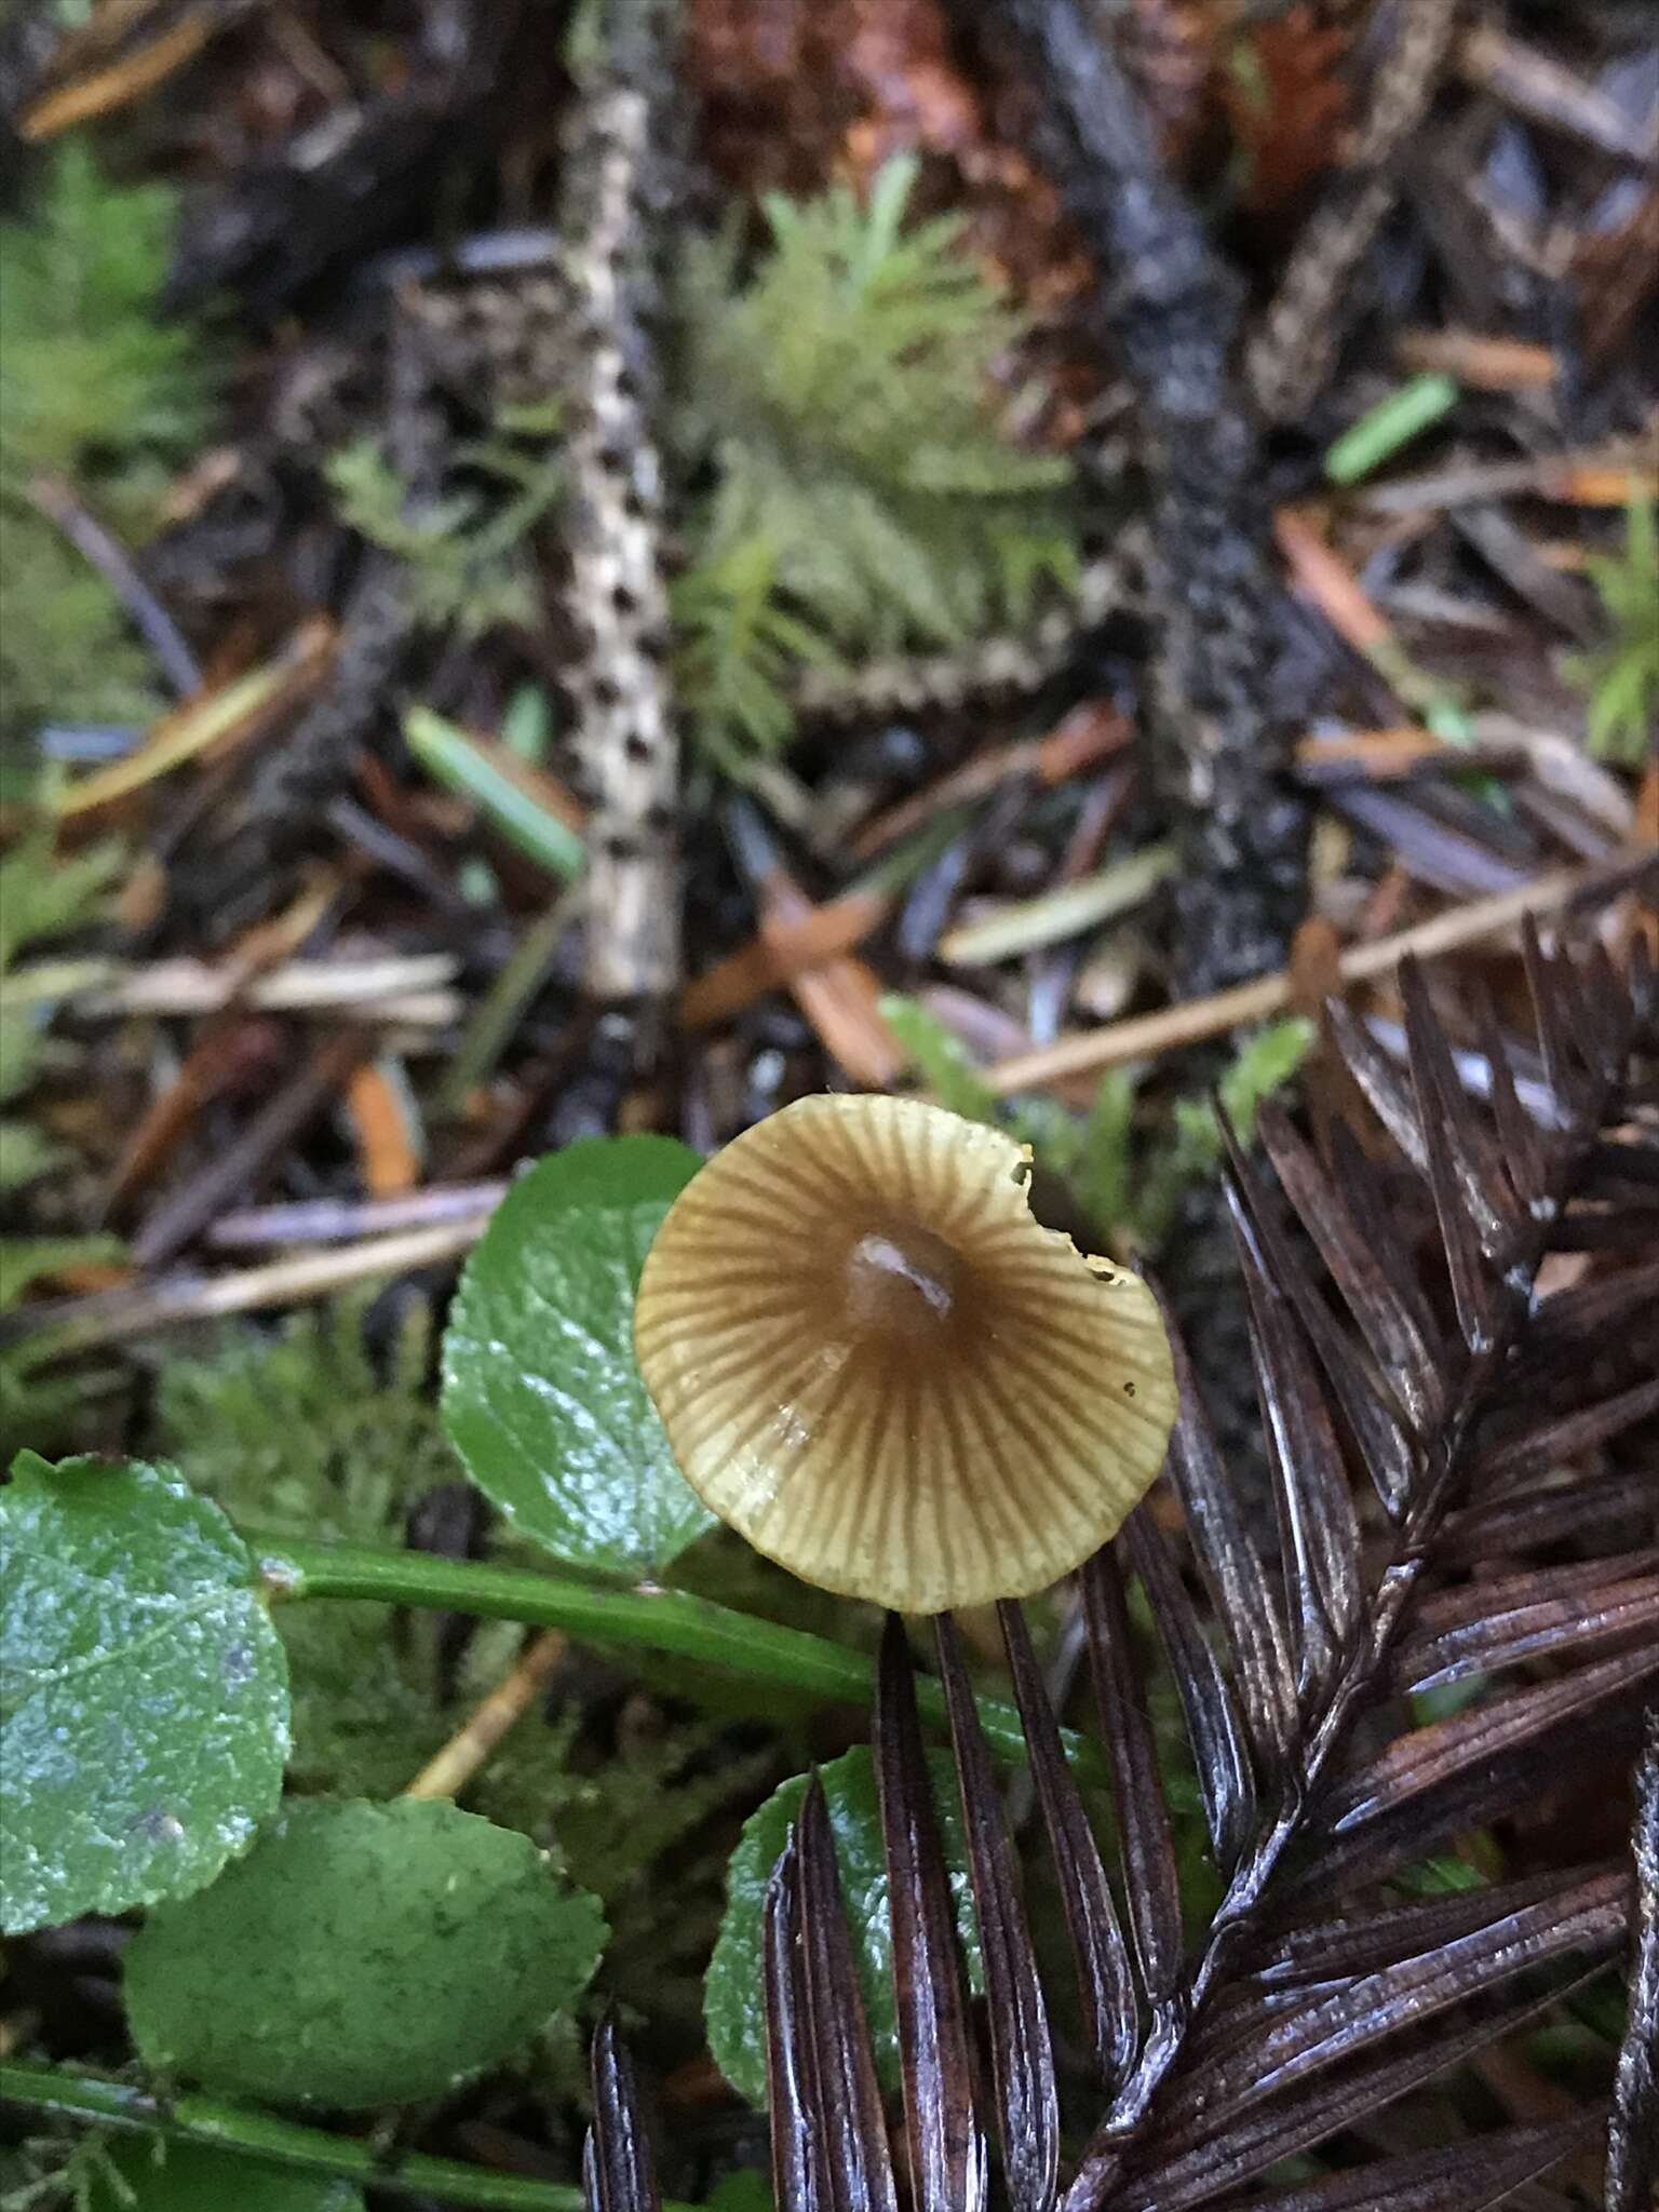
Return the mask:
M 1040 1228 L 1029 1172 L 940 1106 L 805 1097 L 668 1210 L 639 1371 L 703 1504 L 803 1582 L 900 1613 L 1026 1597 L 1164 1464 L 1152 1294 Z

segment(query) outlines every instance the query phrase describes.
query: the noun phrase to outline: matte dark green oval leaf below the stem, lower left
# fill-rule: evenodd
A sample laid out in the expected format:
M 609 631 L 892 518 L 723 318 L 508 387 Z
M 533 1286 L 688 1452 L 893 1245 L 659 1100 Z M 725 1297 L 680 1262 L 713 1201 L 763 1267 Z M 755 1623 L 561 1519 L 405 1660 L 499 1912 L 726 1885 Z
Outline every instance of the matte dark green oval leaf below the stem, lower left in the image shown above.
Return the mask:
M 126 1949 L 148 2066 L 272 2104 L 436 2097 L 511 2057 L 606 1924 L 529 1836 L 453 1805 L 292 1798 L 212 1889 Z

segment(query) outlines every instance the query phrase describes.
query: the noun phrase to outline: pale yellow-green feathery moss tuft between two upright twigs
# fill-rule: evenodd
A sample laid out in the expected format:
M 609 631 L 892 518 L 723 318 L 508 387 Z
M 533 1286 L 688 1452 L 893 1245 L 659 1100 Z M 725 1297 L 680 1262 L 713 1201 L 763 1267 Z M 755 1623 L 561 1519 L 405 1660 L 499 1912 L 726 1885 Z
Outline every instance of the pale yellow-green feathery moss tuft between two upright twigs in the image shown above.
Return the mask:
M 1068 467 L 989 400 L 1020 321 L 956 219 L 905 223 L 914 179 L 896 159 L 867 204 L 768 197 L 748 279 L 732 237 L 686 257 L 672 434 L 712 489 L 675 615 L 714 745 L 781 745 L 794 666 L 962 644 L 1075 573 Z

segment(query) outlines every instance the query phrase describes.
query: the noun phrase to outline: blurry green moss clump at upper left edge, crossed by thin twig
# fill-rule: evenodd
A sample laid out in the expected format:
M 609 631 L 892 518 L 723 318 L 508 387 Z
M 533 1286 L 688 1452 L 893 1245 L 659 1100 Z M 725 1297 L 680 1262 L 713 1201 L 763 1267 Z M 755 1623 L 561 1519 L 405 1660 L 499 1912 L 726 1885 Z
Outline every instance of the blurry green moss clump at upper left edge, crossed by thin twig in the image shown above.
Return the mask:
M 166 471 L 208 422 L 199 332 L 161 323 L 175 197 L 111 184 L 88 148 L 53 150 L 0 226 L 0 714 L 27 730 L 142 719 L 159 706 L 144 648 L 100 575 L 31 507 L 49 471 L 122 535 L 155 520 Z

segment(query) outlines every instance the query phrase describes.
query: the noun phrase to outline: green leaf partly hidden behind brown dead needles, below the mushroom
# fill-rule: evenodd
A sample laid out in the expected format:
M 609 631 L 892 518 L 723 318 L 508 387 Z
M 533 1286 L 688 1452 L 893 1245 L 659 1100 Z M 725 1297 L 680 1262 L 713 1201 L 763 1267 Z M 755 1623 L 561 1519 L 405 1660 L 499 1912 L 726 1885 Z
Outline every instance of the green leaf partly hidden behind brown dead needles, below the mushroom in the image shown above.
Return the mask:
M 980 1991 L 980 1929 L 973 1918 L 956 1778 L 945 1752 L 929 1752 L 927 1763 L 933 1776 L 933 1812 L 956 1902 L 956 1931 L 967 1953 L 969 1982 Z M 843 1759 L 832 1759 L 827 1767 L 818 1767 L 818 1781 L 830 1809 L 830 1834 L 836 1838 L 841 1898 L 847 1909 L 869 2037 L 876 2048 L 876 2073 L 885 2088 L 898 2088 L 894 1922 L 880 1849 L 876 1763 L 860 1745 Z M 732 2088 L 754 2106 L 765 2104 L 765 2015 L 761 2008 L 765 1885 L 790 1840 L 790 1825 L 801 1812 L 805 1794 L 807 1776 L 794 1774 L 787 1783 L 779 1783 L 765 1805 L 745 1820 L 726 1871 L 726 1918 L 703 1984 L 708 2048 Z

